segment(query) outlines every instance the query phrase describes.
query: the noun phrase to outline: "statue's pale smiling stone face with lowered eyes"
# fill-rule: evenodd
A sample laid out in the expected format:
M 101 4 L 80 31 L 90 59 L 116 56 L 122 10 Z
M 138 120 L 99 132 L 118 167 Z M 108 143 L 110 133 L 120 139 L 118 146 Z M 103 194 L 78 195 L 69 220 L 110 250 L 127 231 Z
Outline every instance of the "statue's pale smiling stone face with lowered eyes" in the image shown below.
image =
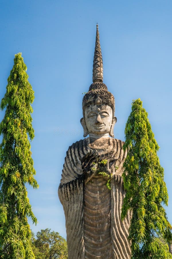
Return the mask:
M 85 124 L 89 135 L 109 135 L 112 119 L 112 108 L 109 105 L 92 104 L 85 109 Z

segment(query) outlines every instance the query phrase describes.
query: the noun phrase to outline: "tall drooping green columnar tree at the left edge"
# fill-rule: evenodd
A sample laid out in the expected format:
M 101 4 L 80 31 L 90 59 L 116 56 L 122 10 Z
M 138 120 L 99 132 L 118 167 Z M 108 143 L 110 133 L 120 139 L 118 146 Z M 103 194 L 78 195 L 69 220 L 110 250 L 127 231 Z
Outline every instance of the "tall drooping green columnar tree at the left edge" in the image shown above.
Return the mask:
M 31 231 L 27 217 L 35 218 L 25 184 L 38 188 L 30 151 L 34 138 L 31 103 L 34 91 L 28 82 L 21 53 L 15 55 L 14 66 L 8 78 L 7 91 L 1 100 L 6 108 L 0 123 L 3 136 L 0 145 L 0 258 L 33 259 L 30 245 Z

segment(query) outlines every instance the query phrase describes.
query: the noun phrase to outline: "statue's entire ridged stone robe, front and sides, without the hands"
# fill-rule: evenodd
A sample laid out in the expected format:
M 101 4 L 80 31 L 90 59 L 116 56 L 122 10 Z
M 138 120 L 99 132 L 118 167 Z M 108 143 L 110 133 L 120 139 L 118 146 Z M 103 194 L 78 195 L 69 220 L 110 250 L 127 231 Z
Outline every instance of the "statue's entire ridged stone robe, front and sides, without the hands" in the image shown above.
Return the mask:
M 81 159 L 93 149 L 89 138 L 77 141 L 67 151 L 58 195 L 66 219 L 69 259 L 130 258 L 131 213 L 121 220 L 125 197 L 121 178 L 126 157 L 123 144 L 121 140 L 109 138 L 108 146 L 95 148 L 101 155 L 108 154 L 105 159 L 114 168 L 110 191 L 102 176 L 93 177 L 87 184 L 84 182 Z

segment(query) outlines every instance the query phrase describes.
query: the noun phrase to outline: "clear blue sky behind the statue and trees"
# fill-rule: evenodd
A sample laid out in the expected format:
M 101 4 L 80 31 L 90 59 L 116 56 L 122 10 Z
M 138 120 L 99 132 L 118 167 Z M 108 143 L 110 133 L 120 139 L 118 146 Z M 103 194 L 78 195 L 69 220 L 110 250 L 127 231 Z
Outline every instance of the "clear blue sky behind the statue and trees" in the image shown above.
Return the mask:
M 116 102 L 115 138 L 124 140 L 132 100 L 141 98 L 160 146 L 172 223 L 172 2 L 0 0 L 0 6 L 0 99 L 18 52 L 35 91 L 31 149 L 40 187 L 28 186 L 38 218 L 37 226 L 29 220 L 32 230 L 66 237 L 57 189 L 69 145 L 83 138 L 82 93 L 92 83 L 97 22 L 103 82 Z

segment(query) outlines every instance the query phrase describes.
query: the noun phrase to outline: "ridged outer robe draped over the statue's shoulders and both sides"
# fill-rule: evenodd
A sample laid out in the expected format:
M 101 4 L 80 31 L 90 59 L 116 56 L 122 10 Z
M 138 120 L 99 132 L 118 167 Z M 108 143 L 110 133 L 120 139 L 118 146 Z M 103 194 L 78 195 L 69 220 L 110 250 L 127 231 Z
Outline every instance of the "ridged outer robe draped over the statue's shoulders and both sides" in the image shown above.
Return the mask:
M 111 180 L 111 217 L 110 236 L 112 258 L 129 259 L 130 244 L 128 242 L 128 228 L 130 226 L 131 213 L 125 220 L 121 220 L 121 208 L 125 197 L 122 182 L 122 166 L 126 153 L 124 153 L 121 140 L 109 138 L 109 146 L 96 148 L 99 154 L 110 153 L 112 163 L 118 166 L 114 170 Z M 60 202 L 63 205 L 66 218 L 67 244 L 69 259 L 84 259 L 84 176 L 81 167 L 81 158 L 91 149 L 90 139 L 80 140 L 69 147 L 62 170 L 62 179 L 58 189 Z M 94 258 L 94 257 L 93 257 Z M 103 258 L 103 257 L 95 257 Z M 108 258 L 104 258 L 108 259 Z

